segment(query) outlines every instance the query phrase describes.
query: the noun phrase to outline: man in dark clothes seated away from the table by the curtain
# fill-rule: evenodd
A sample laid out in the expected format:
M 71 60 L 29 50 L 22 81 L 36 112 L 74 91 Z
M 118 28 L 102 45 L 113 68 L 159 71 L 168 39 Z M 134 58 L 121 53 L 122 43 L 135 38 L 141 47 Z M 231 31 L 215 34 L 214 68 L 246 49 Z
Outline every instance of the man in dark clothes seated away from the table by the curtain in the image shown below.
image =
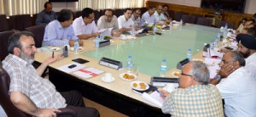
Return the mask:
M 52 10 L 50 2 L 44 3 L 44 10 L 37 15 L 36 25 L 47 25 L 50 21 L 56 20 L 57 15 Z

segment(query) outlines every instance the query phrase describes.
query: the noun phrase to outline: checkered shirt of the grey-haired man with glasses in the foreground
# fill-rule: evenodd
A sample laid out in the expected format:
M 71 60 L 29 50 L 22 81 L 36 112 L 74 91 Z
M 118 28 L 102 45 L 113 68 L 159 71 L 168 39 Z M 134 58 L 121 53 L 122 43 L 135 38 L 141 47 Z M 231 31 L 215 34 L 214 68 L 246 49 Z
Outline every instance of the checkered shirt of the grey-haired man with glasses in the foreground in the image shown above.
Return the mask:
M 166 97 L 162 112 L 172 116 L 223 117 L 221 95 L 216 86 L 178 88 Z

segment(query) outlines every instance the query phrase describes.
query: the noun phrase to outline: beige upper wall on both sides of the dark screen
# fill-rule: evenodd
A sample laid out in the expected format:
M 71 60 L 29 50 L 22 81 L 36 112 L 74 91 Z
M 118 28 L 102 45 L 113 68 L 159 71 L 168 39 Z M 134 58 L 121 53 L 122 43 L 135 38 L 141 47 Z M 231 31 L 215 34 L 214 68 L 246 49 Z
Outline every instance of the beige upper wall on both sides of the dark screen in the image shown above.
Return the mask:
M 200 8 L 201 0 L 147 0 L 150 2 L 159 2 L 159 3 L 172 3 L 178 5 L 185 5 Z M 256 13 L 256 0 L 247 0 L 246 8 L 244 10 L 245 14 L 255 14 Z

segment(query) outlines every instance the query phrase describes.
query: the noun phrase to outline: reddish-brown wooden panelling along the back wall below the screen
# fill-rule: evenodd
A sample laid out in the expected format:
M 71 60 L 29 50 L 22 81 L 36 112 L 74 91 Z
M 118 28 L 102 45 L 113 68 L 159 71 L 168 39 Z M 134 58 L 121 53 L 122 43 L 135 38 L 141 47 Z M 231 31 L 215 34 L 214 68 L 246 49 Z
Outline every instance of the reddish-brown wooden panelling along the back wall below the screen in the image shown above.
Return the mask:
M 177 5 L 177 4 L 172 4 L 172 3 L 158 3 L 158 2 L 150 2 L 150 1 L 148 1 L 146 3 L 146 7 L 148 8 L 148 6 L 150 6 L 150 5 L 157 6 L 157 5 L 164 5 L 164 4 L 167 4 L 169 6 L 170 10 L 175 11 L 175 14 L 177 12 L 186 12 L 189 14 L 204 15 L 204 14 L 209 14 L 209 13 L 215 12 L 214 9 L 196 8 L 196 7 L 183 6 L 183 5 Z M 240 20 L 242 18 L 250 19 L 253 17 L 253 14 L 240 14 L 240 13 L 232 13 L 232 12 L 228 12 L 228 11 L 224 11 L 224 12 L 222 12 L 222 14 L 224 15 L 223 20 L 234 23 L 235 29 L 239 26 Z

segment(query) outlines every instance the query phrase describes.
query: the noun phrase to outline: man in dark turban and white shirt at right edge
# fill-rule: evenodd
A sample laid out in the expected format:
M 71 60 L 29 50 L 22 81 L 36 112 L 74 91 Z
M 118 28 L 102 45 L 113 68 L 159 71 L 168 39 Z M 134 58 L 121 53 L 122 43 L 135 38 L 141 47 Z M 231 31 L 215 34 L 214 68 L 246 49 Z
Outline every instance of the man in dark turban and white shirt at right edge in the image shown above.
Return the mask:
M 254 36 L 239 34 L 236 36 L 236 41 L 238 42 L 237 51 L 246 58 L 245 69 L 251 72 L 256 81 L 256 39 Z

